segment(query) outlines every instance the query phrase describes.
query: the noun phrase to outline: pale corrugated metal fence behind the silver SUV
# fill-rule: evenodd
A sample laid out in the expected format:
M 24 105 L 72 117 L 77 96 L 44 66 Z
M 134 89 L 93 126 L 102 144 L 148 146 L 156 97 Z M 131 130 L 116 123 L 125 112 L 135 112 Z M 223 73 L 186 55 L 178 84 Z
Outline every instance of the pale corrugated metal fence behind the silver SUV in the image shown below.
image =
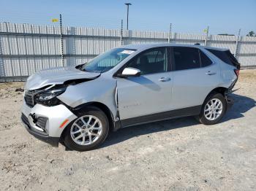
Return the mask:
M 122 34 L 122 36 L 121 36 Z M 256 66 L 256 37 L 177 34 L 64 27 L 64 66 L 85 63 L 121 44 L 175 42 L 229 48 L 243 68 Z M 24 80 L 42 69 L 62 66 L 58 26 L 0 23 L 0 82 Z

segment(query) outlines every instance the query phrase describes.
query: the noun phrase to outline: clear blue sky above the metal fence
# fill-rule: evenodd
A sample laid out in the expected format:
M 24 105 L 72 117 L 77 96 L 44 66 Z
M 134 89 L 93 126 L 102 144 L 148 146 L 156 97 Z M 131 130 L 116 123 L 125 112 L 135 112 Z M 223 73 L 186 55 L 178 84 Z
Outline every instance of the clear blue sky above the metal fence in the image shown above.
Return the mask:
M 241 34 L 256 32 L 256 0 L 152 0 L 152 1 L 67 1 L 67 0 L 0 0 L 0 22 L 53 25 L 52 18 L 63 15 L 65 26 L 120 28 L 126 26 L 127 7 L 129 29 L 203 33 L 210 26 L 210 34 Z

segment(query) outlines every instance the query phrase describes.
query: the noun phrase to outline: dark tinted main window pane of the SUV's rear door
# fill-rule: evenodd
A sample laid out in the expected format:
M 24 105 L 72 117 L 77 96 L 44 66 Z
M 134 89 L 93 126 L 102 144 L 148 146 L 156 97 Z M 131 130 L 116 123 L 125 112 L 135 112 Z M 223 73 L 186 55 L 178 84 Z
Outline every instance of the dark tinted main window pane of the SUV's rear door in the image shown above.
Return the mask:
M 200 68 L 200 57 L 197 48 L 173 47 L 174 70 Z

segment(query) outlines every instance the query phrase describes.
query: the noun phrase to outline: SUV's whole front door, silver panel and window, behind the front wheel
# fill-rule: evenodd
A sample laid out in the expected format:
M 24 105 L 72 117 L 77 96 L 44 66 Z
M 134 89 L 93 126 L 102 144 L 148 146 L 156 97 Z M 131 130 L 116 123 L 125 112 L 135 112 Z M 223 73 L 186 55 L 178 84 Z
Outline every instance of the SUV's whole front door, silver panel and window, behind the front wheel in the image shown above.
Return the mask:
M 170 110 L 172 74 L 168 67 L 167 48 L 141 52 L 127 67 L 140 69 L 140 77 L 117 78 L 118 111 L 121 120 L 138 118 Z M 127 125 L 127 124 L 123 124 Z

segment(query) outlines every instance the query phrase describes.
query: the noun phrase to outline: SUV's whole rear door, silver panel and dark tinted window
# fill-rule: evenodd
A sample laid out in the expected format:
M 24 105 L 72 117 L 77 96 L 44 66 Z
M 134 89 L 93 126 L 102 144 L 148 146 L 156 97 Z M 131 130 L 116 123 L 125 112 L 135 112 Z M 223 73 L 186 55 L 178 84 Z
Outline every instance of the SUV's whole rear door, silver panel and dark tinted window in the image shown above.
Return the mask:
M 195 47 L 173 47 L 171 55 L 173 109 L 202 105 L 219 84 L 218 65 Z

